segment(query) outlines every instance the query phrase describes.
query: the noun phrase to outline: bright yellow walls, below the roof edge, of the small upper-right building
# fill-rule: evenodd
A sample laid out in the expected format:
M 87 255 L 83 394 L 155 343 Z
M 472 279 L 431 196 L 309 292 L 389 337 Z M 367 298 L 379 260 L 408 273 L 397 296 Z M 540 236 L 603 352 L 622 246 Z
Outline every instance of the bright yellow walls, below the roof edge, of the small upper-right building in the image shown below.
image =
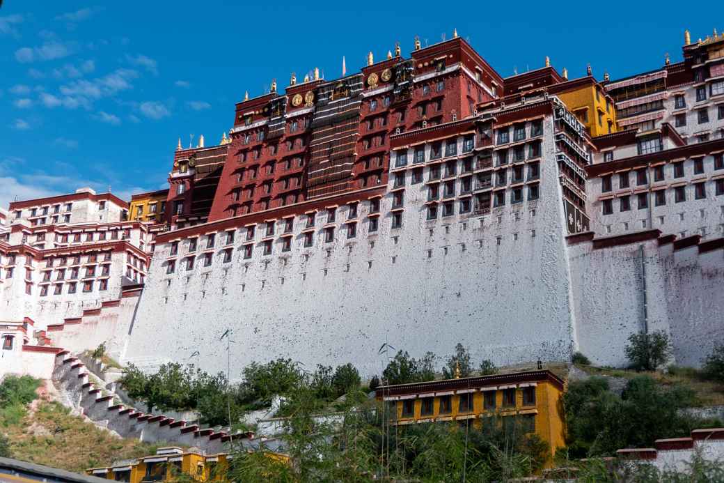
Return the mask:
M 598 99 L 596 98 L 596 91 L 599 91 Z M 616 132 L 615 106 L 612 100 L 609 100 L 608 105 L 606 105 L 605 91 L 600 86 L 589 84 L 556 95 L 568 107 L 569 111 L 578 116 L 578 120 L 586 126 L 591 136 Z M 581 113 L 584 111 L 588 114 L 587 120 L 581 118 Z M 599 112 L 602 112 L 600 123 Z M 610 131 L 609 122 L 611 123 Z

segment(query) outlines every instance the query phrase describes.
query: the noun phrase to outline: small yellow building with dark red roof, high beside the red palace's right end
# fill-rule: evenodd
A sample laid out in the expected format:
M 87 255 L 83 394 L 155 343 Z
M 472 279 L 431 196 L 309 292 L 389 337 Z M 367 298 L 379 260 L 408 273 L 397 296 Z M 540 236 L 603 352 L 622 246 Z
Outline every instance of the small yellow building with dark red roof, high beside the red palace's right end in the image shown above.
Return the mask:
M 563 101 L 592 137 L 616 132 L 613 98 L 593 77 L 566 80 L 550 86 L 549 93 Z

